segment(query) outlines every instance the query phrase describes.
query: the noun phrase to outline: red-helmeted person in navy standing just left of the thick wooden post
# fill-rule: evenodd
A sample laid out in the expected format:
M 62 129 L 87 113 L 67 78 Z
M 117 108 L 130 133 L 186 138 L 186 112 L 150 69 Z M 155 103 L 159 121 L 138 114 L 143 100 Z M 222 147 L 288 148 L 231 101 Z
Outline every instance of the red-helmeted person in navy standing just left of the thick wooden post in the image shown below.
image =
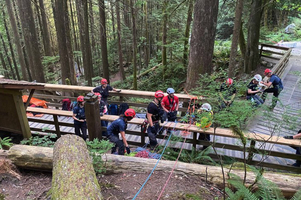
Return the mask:
M 82 139 L 86 141 L 87 139 L 87 122 L 85 115 L 85 107 L 84 107 L 84 97 L 77 97 L 77 105 L 73 109 L 72 118 L 74 119 L 74 132 L 75 135 L 80 135 L 80 130 L 82 131 Z

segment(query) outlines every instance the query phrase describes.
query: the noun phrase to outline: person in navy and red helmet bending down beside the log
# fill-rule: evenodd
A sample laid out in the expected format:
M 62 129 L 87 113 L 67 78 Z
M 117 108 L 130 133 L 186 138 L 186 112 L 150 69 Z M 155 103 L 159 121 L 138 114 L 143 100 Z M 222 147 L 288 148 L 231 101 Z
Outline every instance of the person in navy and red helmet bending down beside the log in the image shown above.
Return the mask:
M 126 153 L 130 154 L 131 150 L 126 141 L 126 128 L 127 122 L 135 118 L 136 112 L 134 109 L 127 109 L 124 112 L 124 115 L 120 115 L 118 119 L 113 121 L 107 128 L 107 138 L 110 142 L 115 144 L 115 147 L 112 148 L 112 154 L 116 152 L 118 148 L 118 155 L 124 155 L 124 146 L 126 146 Z M 122 140 L 119 139 L 119 133 L 121 134 Z

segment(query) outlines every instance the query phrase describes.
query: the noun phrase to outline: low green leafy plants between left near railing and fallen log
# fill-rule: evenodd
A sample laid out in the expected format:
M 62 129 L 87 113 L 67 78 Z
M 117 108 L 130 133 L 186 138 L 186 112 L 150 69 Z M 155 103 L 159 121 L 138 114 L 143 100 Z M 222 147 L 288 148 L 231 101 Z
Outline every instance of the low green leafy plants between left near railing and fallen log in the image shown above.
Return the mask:
M 47 128 L 47 127 L 46 127 Z M 43 128 L 44 131 L 46 128 Z M 39 134 L 39 133 L 36 133 Z M 55 139 L 56 135 L 48 133 L 47 136 L 33 136 L 27 140 L 22 140 L 22 145 L 39 146 L 39 147 L 54 147 L 54 142 L 51 139 Z

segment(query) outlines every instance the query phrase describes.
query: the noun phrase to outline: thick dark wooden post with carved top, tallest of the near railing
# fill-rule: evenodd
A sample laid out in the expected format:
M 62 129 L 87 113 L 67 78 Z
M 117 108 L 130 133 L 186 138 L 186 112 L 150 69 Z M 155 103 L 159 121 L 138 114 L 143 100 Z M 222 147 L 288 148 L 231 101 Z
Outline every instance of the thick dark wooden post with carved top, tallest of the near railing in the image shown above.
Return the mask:
M 95 138 L 102 139 L 101 119 L 99 111 L 98 96 L 89 93 L 84 98 L 85 100 L 85 115 L 88 127 L 89 141 Z

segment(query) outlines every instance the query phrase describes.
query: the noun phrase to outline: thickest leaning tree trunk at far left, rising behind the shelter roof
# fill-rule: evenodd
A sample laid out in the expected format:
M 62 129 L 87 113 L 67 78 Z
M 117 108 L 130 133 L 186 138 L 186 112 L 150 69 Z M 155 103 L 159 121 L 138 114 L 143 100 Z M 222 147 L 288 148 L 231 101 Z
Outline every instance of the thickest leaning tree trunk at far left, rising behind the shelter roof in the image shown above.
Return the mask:
M 35 22 L 33 18 L 33 10 L 30 0 L 17 0 L 17 4 L 20 12 L 20 19 L 24 34 L 24 40 L 26 42 L 26 48 L 29 58 L 29 64 L 33 63 L 31 71 L 35 74 L 36 81 L 45 83 L 44 70 L 41 60 L 41 54 L 39 50 L 39 41 L 36 35 Z M 30 60 L 32 60 L 30 62 Z

